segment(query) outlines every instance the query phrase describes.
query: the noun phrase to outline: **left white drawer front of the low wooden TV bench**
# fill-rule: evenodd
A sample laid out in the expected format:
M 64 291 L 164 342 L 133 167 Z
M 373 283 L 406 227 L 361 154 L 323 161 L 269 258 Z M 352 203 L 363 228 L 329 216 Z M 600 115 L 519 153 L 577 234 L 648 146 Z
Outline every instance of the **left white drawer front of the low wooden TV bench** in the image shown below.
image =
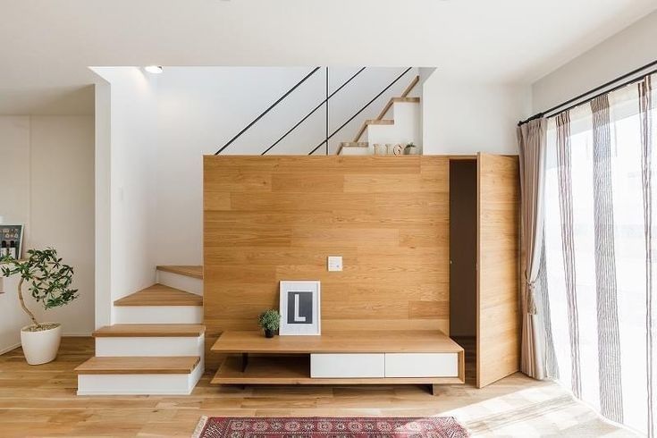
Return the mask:
M 383 377 L 383 353 L 375 354 L 311 354 L 310 377 Z

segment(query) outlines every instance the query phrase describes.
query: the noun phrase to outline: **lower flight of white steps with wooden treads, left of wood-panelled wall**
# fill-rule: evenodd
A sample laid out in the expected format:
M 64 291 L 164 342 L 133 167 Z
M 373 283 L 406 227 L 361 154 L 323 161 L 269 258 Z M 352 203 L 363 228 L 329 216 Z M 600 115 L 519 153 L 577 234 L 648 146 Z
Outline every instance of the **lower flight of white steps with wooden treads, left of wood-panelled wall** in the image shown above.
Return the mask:
M 115 324 L 75 368 L 79 395 L 186 395 L 203 375 L 203 267 L 164 265 L 157 283 L 114 301 Z

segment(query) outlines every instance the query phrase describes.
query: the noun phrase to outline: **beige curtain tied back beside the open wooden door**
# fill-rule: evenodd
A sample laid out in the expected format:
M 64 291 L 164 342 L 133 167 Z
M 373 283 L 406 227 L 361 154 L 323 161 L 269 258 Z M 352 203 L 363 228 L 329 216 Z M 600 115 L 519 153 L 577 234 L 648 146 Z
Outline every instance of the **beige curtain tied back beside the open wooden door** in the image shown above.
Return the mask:
M 520 369 L 535 379 L 547 377 L 542 319 L 536 312 L 543 255 L 543 193 L 547 121 L 542 117 L 518 126 L 520 150 L 520 248 L 524 275 L 520 288 L 522 347 Z

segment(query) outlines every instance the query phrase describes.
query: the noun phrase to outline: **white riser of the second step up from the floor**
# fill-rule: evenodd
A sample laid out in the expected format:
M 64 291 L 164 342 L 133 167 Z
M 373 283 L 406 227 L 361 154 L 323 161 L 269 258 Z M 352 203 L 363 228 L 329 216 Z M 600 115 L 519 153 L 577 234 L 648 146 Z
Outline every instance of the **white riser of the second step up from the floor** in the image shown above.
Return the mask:
M 96 356 L 200 356 L 205 335 L 198 337 L 96 338 Z

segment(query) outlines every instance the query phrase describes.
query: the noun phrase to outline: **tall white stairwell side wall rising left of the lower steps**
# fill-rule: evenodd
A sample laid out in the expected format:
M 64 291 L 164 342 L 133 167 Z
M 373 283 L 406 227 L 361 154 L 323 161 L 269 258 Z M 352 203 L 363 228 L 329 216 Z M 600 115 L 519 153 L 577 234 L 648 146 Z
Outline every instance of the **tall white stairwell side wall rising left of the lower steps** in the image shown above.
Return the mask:
M 97 164 L 96 173 L 99 190 L 108 175 L 110 187 L 110 223 L 98 222 L 105 227 L 101 238 L 109 234 L 111 257 L 98 261 L 109 276 L 98 279 L 99 289 L 109 290 L 114 301 L 150 286 L 156 277 L 156 79 L 135 67 L 93 70 L 110 84 L 109 97 L 103 84 L 98 90 L 97 155 L 105 162 Z M 106 205 L 101 208 L 98 215 L 107 215 Z M 105 309 L 97 312 L 104 316 Z

